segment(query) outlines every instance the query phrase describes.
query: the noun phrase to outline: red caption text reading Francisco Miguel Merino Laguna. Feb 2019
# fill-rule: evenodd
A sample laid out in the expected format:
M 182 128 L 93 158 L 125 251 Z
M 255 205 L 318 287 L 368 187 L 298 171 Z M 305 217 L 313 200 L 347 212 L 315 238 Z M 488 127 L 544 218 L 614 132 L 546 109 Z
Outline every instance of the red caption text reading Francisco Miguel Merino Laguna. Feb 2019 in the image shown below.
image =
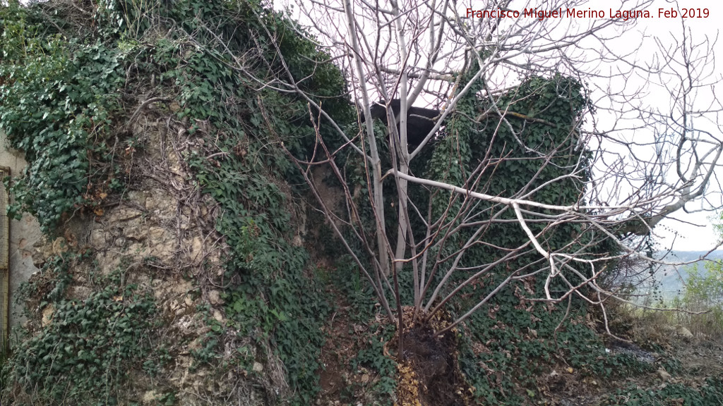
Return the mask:
M 680 14 L 679 14 L 680 13 Z M 552 9 L 552 10 L 539 10 L 539 9 L 523 9 L 522 12 L 518 10 L 508 9 L 491 9 L 491 10 L 475 10 L 467 9 L 467 18 L 519 18 L 529 17 L 536 18 L 537 20 L 544 20 L 546 18 L 613 18 L 630 20 L 633 18 L 676 18 L 680 15 L 683 18 L 708 18 L 710 16 L 709 9 L 700 8 L 689 8 L 689 9 L 658 9 L 657 15 L 651 14 L 649 10 L 613 10 L 608 9 L 606 14 L 605 10 L 594 10 L 594 9 Z

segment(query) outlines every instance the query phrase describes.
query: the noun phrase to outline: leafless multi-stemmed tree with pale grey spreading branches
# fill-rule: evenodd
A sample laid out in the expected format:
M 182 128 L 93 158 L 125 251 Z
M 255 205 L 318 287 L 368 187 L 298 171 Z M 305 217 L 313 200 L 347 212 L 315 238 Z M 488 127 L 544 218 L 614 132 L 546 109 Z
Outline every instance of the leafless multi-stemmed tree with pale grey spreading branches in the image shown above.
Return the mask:
M 408 282 L 414 318 L 424 322 L 462 290 L 495 275 L 486 280 L 494 285 L 437 334 L 500 290 L 530 280 L 540 288 L 523 289 L 526 300 L 578 295 L 604 312 L 615 292 L 597 280 L 617 260 L 646 258 L 639 252 L 641 236 L 701 200 L 707 210 L 721 207 L 722 105 L 709 91 L 720 82 L 713 70 L 715 40 L 696 42 L 677 4 L 678 18 L 666 21 L 680 29 L 670 38 L 633 30 L 630 16 L 658 17 L 651 1 L 623 1 L 619 18 L 607 9 L 599 15 L 586 1 L 478 1 L 479 9 L 450 0 L 308 0 L 297 6 L 294 17 L 306 26 L 299 32 L 310 30 L 346 72 L 358 124 L 337 123 L 305 93 L 310 77 L 283 69 L 254 79 L 306 98 L 313 124 L 335 129 L 340 142 L 317 132 L 310 155 L 289 154 L 400 331 L 400 285 Z M 637 46 L 620 41 L 651 43 L 656 51 L 643 59 Z M 286 66 L 281 51 L 277 57 Z M 246 72 L 243 60 L 235 61 Z M 549 87 L 535 89 L 532 77 L 546 78 Z M 518 91 L 521 84 L 526 92 Z M 550 91 L 552 100 L 585 101 L 562 121 L 551 121 L 559 113 L 545 111 L 547 105 L 535 113 L 518 110 Z M 412 106 L 437 115 L 420 116 Z M 383 131 L 375 118 L 382 118 Z M 420 121 L 424 134 L 411 134 Z M 474 157 L 468 154 L 471 136 L 459 123 L 472 136 L 486 137 Z M 535 126 L 543 134 L 557 131 L 557 138 L 526 139 Z M 418 163 L 430 159 L 439 176 L 420 172 L 429 165 Z M 515 190 L 495 186 L 518 160 L 536 165 L 529 179 Z M 341 207 L 320 191 L 322 173 L 341 183 Z M 363 181 L 350 181 L 351 173 Z M 570 188 L 576 194 L 558 202 L 540 198 Z M 521 238 L 495 243 L 491 234 L 502 228 Z M 564 243 L 552 243 L 562 232 L 569 234 Z M 479 256 L 480 247 L 496 254 Z

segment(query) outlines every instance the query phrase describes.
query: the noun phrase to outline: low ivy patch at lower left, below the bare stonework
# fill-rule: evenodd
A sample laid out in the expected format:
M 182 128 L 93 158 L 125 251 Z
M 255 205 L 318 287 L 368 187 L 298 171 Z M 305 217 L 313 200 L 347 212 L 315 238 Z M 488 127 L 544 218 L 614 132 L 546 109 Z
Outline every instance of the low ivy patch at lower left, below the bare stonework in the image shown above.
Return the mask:
M 63 259 L 66 266 L 73 263 L 69 259 Z M 114 405 L 129 368 L 153 372 L 153 360 L 164 359 L 162 349 L 154 350 L 150 342 L 153 296 L 121 285 L 119 273 L 101 282 L 106 287 L 82 301 L 54 291 L 45 295 L 51 306 L 44 307 L 50 310 L 48 324 L 20 342 L 11 361 L 14 380 L 32 399 Z

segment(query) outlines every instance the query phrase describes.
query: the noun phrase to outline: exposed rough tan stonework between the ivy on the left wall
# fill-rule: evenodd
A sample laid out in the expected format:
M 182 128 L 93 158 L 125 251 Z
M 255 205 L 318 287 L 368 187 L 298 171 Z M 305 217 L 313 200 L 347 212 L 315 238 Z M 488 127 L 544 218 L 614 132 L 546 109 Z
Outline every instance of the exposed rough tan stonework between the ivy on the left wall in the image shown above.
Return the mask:
M 139 134 L 147 129 L 142 130 Z M 159 137 L 159 134 L 155 136 Z M 157 144 L 148 145 L 146 151 L 154 155 L 150 160 L 156 164 L 154 171 L 163 166 L 159 164 L 160 155 L 176 154 L 173 148 L 163 150 Z M 138 152 L 135 159 L 147 158 L 140 154 Z M 180 162 L 166 158 L 171 164 Z M 170 362 L 159 365 L 163 376 L 168 377 L 161 386 L 155 386 L 158 384 L 156 381 L 142 381 L 145 374 L 137 371 L 140 379 L 133 380 L 134 393 L 129 394 L 134 402 L 160 404 L 164 395 L 171 392 L 199 394 L 204 399 L 227 399 L 234 388 L 244 387 L 243 392 L 255 399 L 244 405 L 263 405 L 259 389 L 254 388 L 245 376 L 234 376 L 229 378 L 228 384 L 219 384 L 217 371 L 208 368 L 197 370 L 194 366 L 196 360 L 192 352 L 204 349 L 205 340 L 208 340 L 206 334 L 210 331 L 207 316 L 198 313 L 197 307 L 208 301 L 213 318 L 226 323 L 221 290 L 206 291 L 205 285 L 200 283 L 207 280 L 219 282 L 220 278 L 216 278 L 224 272 L 223 253 L 228 247 L 213 230 L 218 210 L 215 210 L 213 201 L 201 204 L 202 199 L 190 201 L 187 196 L 179 197 L 173 186 L 144 177 L 140 173 L 143 165 L 134 165 L 136 168 L 139 173 L 134 176 L 142 181 L 129 185 L 129 188 L 140 189 L 127 190 L 118 204 L 104 207 L 102 215 L 89 216 L 78 212 L 64 223 L 64 230 L 59 230 L 59 235 L 64 237 L 34 243 L 35 264 L 43 264 L 51 256 L 67 251 L 87 249 L 92 256 L 84 260 L 86 264 L 72 268 L 72 282 L 67 286 L 66 298 L 84 300 L 104 288 L 98 281 L 113 272 L 122 273 L 124 285 L 137 285 L 137 293 L 153 296 L 158 308 L 158 319 L 154 322 L 158 322 L 161 336 L 151 337 L 151 340 L 162 344 L 172 358 Z M 158 178 L 172 178 L 179 185 L 191 178 L 183 172 L 181 165 L 176 164 L 174 171 L 171 175 L 166 170 Z M 202 215 L 202 219 L 196 217 L 198 214 Z M 206 286 L 213 288 L 213 285 Z M 36 329 L 38 324 L 47 327 L 53 322 L 55 311 L 52 305 L 41 308 L 29 325 Z M 235 332 L 232 334 L 232 339 L 238 341 Z M 235 350 L 236 347 L 228 348 Z M 258 363 L 254 368 L 260 368 L 258 371 L 265 375 L 275 371 L 275 364 L 262 362 L 264 364 Z M 276 386 L 282 387 L 281 383 Z M 197 405 L 197 400 L 192 396 L 180 397 L 176 399 L 176 405 Z M 213 404 L 224 403 L 219 400 Z

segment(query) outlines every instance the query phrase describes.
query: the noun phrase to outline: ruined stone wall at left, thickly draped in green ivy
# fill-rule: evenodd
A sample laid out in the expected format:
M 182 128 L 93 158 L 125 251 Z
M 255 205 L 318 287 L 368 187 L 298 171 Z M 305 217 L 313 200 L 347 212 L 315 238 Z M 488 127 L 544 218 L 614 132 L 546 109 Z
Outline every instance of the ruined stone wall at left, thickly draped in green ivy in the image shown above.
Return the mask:
M 251 404 L 308 405 L 330 307 L 280 144 L 304 153 L 315 131 L 305 100 L 258 81 L 280 69 L 278 46 L 343 120 L 341 73 L 257 1 L 78 7 L 0 7 L 0 129 L 28 162 L 9 212 L 37 217 L 51 248 L 24 288 L 29 335 L 4 399 L 222 404 L 246 388 Z

